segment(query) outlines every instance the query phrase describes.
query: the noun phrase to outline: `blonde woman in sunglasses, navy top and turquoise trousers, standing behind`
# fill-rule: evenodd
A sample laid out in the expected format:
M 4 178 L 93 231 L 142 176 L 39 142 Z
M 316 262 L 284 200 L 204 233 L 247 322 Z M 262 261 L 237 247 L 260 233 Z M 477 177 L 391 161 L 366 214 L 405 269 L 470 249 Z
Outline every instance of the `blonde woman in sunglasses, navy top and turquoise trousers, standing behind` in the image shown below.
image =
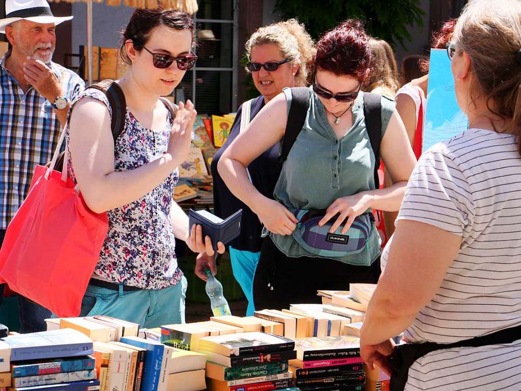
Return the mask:
M 251 101 L 250 119 L 285 87 L 306 84 L 308 61 L 314 53 L 313 40 L 304 26 L 295 19 L 274 23 L 255 31 L 246 42 L 249 62 L 246 70 L 251 72 L 255 88 L 261 96 Z M 226 143 L 212 161 L 214 178 L 215 212 L 226 218 L 242 209 L 241 235 L 230 243 L 230 259 L 233 276 L 248 300 L 246 315 L 253 315 L 253 277 L 263 238 L 262 225 L 257 215 L 244 202 L 235 197 L 217 170 L 220 157 L 240 132 L 243 105 L 239 107 Z M 275 184 L 279 179 L 279 146 L 271 146 L 248 166 L 252 184 L 263 196 L 273 199 Z

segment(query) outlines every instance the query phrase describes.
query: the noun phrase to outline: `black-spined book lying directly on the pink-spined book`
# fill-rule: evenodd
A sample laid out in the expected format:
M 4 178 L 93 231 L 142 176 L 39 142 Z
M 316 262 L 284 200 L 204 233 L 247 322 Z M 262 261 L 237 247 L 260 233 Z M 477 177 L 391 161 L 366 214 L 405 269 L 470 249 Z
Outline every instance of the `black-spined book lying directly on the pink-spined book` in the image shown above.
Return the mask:
M 297 359 L 302 361 L 360 356 L 360 339 L 349 335 L 301 338 L 295 341 Z

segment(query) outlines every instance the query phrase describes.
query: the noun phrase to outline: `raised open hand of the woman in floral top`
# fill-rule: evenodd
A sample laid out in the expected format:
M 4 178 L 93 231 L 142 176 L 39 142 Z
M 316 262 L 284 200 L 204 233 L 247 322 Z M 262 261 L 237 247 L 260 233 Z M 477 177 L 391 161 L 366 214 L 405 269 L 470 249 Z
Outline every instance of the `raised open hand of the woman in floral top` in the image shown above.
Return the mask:
M 179 103 L 179 110 L 176 113 L 176 118 L 173 120 L 173 125 L 170 129 L 170 141 L 168 143 L 167 152 L 179 159 L 188 156 L 190 152 L 190 143 L 192 141 L 192 130 L 194 127 L 195 116 L 194 105 L 190 100 L 187 104 Z

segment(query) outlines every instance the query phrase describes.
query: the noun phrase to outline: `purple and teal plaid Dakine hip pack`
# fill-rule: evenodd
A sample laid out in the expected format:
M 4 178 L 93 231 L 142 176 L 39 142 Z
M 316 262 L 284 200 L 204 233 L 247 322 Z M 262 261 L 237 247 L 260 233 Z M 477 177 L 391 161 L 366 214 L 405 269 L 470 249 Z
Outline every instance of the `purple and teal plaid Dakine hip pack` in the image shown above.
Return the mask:
M 293 238 L 308 252 L 322 257 L 342 257 L 357 254 L 369 245 L 369 233 L 374 224 L 373 213 L 357 216 L 349 230 L 342 234 L 340 231 L 344 224 L 334 233 L 329 232 L 337 216 L 321 227 L 318 225 L 326 214 L 325 210 L 297 209 L 292 212 L 299 220 Z

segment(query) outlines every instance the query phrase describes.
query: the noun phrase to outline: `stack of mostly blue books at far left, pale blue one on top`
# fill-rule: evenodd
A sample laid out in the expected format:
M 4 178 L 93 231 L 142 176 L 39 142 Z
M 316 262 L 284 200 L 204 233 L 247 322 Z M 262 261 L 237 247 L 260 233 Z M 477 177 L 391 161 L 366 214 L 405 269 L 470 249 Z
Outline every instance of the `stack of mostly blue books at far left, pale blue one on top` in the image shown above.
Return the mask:
M 10 379 L 8 391 L 100 390 L 92 340 L 76 330 L 9 335 L 0 345 L 4 363 L 6 352 L 10 373 L 0 377 L 3 386 Z

